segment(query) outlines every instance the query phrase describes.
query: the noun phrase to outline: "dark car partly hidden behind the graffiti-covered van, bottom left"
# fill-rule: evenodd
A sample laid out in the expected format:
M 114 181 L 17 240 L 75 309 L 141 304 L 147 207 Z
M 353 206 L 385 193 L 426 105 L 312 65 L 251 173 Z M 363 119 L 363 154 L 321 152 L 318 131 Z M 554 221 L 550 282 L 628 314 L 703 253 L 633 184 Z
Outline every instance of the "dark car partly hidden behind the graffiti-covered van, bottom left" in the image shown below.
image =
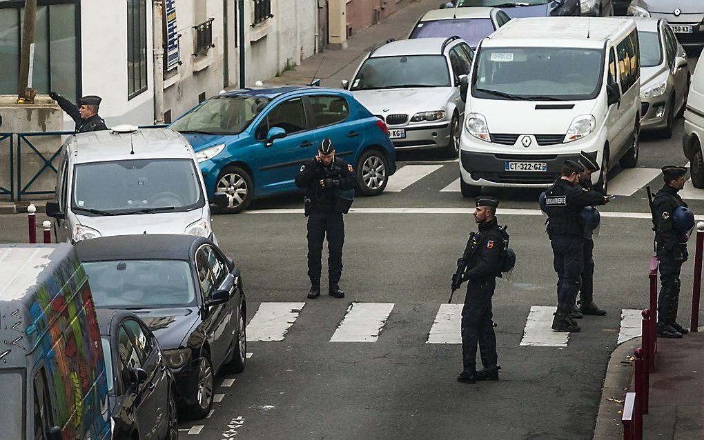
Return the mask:
M 137 315 L 97 310 L 113 439 L 178 439 L 175 379 Z

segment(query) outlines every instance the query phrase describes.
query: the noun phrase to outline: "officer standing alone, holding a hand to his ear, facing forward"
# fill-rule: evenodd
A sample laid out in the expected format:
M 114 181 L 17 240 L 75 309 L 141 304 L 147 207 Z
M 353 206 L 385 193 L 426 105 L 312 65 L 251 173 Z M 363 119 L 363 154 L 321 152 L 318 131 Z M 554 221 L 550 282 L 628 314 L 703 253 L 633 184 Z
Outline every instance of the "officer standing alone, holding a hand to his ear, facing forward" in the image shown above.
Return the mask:
M 336 208 L 336 190 L 354 189 L 357 179 L 352 165 L 335 156 L 332 140 L 322 139 L 318 155 L 310 159 L 296 176 L 296 186 L 306 189 L 306 215 L 308 216 L 308 298 L 320 296 L 320 271 L 322 242 L 327 234 L 328 294 L 344 298 L 339 287 L 342 275 L 342 245 L 345 225 L 342 213 Z

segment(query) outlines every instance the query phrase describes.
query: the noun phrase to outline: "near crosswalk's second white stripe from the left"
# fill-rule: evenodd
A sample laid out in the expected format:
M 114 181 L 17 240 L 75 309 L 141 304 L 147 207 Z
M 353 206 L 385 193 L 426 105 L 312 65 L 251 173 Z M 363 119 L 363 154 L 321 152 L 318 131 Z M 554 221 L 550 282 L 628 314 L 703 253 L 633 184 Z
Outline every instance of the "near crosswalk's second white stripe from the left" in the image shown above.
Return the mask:
M 393 309 L 393 303 L 352 303 L 330 342 L 376 341 Z

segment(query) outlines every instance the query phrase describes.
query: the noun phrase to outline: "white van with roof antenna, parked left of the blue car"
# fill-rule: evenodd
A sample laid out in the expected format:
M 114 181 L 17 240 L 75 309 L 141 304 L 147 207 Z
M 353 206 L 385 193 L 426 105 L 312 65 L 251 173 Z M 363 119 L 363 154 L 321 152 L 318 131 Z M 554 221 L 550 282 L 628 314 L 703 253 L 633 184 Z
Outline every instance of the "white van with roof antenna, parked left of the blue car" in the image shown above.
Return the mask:
M 57 241 L 125 234 L 215 239 L 203 176 L 181 134 L 121 125 L 75 134 L 61 155 L 56 200 L 46 203 Z

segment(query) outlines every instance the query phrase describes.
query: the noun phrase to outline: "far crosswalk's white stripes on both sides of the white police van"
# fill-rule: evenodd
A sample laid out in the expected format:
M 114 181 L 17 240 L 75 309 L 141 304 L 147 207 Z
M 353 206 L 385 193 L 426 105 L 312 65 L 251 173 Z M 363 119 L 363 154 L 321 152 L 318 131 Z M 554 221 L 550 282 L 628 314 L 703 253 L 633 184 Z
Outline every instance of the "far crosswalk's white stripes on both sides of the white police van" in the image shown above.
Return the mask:
M 386 192 L 402 192 L 408 191 L 409 187 L 414 184 L 422 183 L 427 177 L 434 173 L 443 173 L 450 175 L 453 180 L 448 183 L 448 180 L 438 184 L 436 188 L 432 185 L 429 187 L 431 191 L 439 191 L 441 193 L 458 193 L 460 192 L 460 178 L 456 177 L 459 174 L 458 163 L 441 163 L 435 165 L 403 165 L 394 175 L 389 177 L 389 183 L 386 185 Z M 633 196 L 637 195 L 646 185 L 650 184 L 653 191 L 660 189 L 662 180 L 658 177 L 662 172 L 660 168 L 626 168 L 622 170 L 612 170 L 610 173 L 610 182 L 608 186 L 609 194 L 618 196 Z M 434 181 L 433 184 L 436 184 Z M 684 189 L 679 191 L 683 199 L 704 200 L 704 189 L 693 187 L 691 180 L 688 180 Z

